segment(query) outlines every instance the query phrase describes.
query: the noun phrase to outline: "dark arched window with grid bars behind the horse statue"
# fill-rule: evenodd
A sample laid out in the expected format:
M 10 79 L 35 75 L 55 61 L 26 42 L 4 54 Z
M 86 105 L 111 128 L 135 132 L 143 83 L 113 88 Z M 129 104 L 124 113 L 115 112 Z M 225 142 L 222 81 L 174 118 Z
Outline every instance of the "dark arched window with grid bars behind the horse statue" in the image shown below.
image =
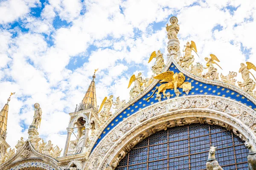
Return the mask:
M 137 144 L 116 170 L 206 170 L 209 147 L 224 170 L 247 170 L 244 142 L 224 127 L 192 124 L 157 132 Z

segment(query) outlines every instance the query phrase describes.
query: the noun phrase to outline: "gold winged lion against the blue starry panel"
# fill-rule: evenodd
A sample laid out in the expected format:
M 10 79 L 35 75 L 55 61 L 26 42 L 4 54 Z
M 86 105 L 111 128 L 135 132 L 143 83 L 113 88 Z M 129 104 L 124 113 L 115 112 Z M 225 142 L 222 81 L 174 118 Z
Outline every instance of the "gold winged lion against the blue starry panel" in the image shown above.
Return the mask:
M 155 91 L 157 91 L 157 94 L 160 94 L 160 92 L 163 92 L 163 95 L 166 96 L 166 90 L 172 89 L 176 91 L 178 87 L 182 87 L 181 85 L 185 81 L 185 76 L 183 73 L 175 73 L 173 71 L 166 71 L 162 74 L 159 74 L 154 77 L 154 79 L 160 79 L 160 82 L 167 82 L 166 84 L 160 85 L 158 88 L 156 88 L 151 96 L 154 95 Z M 151 96 L 149 96 L 146 100 L 148 100 Z

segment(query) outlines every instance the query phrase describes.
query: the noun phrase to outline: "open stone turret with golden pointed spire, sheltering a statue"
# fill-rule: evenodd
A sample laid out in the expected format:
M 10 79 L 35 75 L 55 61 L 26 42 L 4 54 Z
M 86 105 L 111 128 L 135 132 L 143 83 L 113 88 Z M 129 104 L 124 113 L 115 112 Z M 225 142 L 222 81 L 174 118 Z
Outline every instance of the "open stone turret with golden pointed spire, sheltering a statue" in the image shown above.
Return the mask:
M 100 125 L 94 81 L 97 70 L 94 71 L 93 80 L 79 107 L 76 106 L 75 112 L 69 113 L 70 122 L 67 127 L 67 140 L 63 156 L 85 153 Z M 72 133 L 77 133 L 76 139 L 70 141 Z

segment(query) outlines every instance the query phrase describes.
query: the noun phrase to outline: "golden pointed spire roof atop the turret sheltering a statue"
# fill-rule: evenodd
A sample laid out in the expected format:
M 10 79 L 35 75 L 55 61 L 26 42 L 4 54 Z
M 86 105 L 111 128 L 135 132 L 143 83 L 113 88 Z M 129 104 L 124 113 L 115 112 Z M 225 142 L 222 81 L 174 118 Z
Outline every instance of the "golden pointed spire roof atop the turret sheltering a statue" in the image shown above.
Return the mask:
M 95 89 L 95 81 L 96 78 L 95 72 L 93 74 L 93 80 L 90 83 L 90 86 L 84 95 L 84 99 L 82 100 L 82 105 L 84 106 L 84 109 L 93 108 L 95 111 L 97 110 L 97 100 L 96 100 L 96 89 Z

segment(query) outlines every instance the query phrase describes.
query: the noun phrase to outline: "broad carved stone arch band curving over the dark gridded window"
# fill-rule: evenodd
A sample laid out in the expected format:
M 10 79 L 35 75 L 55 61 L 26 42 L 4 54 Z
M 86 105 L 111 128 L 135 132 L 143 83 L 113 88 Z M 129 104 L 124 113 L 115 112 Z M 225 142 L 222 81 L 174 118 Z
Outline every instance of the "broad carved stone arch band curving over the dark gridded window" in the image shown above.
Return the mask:
M 250 107 L 220 96 L 183 96 L 148 106 L 116 125 L 90 154 L 83 170 L 103 170 L 107 163 L 116 167 L 125 153 L 151 134 L 192 123 L 226 127 L 256 143 L 256 111 Z M 100 162 L 97 167 L 95 161 Z

